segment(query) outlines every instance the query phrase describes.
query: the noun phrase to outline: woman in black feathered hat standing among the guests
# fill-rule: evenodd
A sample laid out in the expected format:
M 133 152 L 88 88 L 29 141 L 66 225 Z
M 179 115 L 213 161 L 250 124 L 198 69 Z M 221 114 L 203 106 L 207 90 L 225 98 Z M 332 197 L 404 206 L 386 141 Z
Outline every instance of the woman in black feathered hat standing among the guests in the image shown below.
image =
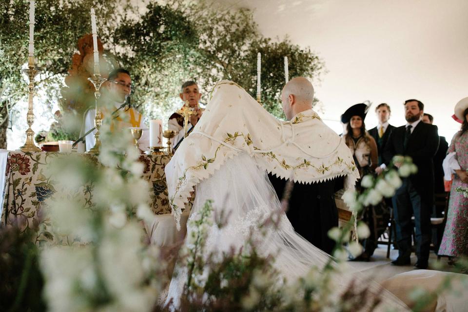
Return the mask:
M 344 135 L 346 145 L 351 149 L 354 162 L 359 170 L 361 178 L 373 174 L 378 164 L 378 148 L 375 139 L 366 131 L 364 119 L 369 107 L 364 104 L 355 104 L 348 108 L 341 116 L 341 122 L 347 124 Z M 356 184 L 360 192 L 360 180 Z M 370 236 L 361 243 L 364 251 L 354 258 L 355 261 L 369 261 L 370 256 L 377 248 L 377 239 L 385 231 L 389 218 L 388 209 L 384 202 L 376 206 L 366 207 L 362 211 L 362 220 L 370 229 Z

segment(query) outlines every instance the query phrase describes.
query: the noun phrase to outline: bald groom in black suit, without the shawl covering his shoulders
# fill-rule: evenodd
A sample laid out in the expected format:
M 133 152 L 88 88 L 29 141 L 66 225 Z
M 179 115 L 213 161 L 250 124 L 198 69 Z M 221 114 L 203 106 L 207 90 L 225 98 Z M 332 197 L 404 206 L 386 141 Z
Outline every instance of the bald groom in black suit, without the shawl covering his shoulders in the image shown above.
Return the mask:
M 312 83 L 303 77 L 292 78 L 281 92 L 283 111 L 288 120 L 311 110 L 312 101 Z M 278 198 L 288 202 L 286 215 L 294 231 L 315 247 L 331 254 L 335 242 L 327 233 L 338 226 L 338 210 L 333 194 L 343 188 L 343 178 L 311 184 L 292 183 L 271 174 L 269 178 Z M 289 197 L 289 200 L 285 197 Z

